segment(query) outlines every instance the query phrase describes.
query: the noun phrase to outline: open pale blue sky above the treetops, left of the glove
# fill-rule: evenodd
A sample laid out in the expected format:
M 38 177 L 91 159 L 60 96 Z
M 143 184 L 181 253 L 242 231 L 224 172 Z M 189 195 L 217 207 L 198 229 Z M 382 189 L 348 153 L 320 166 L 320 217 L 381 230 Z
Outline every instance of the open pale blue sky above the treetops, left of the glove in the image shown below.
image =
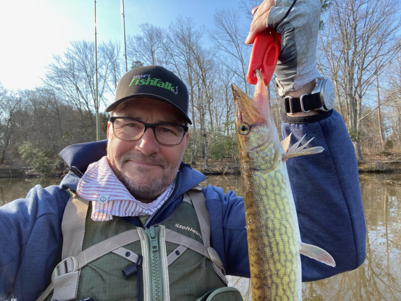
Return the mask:
M 140 33 L 139 25 L 168 27 L 181 16 L 196 25 L 213 25 L 216 9 L 237 8 L 236 0 L 124 1 L 125 34 Z M 94 0 L 1 0 L 0 83 L 8 90 L 41 86 L 53 55 L 71 41 L 94 41 Z M 120 0 L 96 1 L 97 43 L 123 41 Z

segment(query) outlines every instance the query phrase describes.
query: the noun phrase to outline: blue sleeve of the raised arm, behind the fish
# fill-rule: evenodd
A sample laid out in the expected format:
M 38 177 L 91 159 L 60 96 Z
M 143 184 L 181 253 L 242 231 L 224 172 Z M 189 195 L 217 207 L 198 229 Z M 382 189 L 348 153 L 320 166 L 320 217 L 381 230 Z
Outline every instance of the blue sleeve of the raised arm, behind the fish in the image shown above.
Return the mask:
M 308 117 L 283 117 L 282 134 L 291 144 L 314 137 L 320 154 L 287 161 L 301 239 L 328 251 L 336 267 L 301 256 L 302 280 L 311 281 L 355 269 L 366 256 L 366 226 L 353 144 L 334 110 Z

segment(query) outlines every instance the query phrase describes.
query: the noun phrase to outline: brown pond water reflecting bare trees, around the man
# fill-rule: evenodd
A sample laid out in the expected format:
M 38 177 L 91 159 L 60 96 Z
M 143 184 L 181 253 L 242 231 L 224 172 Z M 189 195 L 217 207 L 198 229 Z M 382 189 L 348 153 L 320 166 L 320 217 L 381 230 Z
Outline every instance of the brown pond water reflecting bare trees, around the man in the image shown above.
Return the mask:
M 25 197 L 36 184 L 59 181 L 0 179 L 0 205 Z M 210 176 L 207 184 L 242 194 L 239 176 Z M 368 229 L 366 260 L 356 270 L 303 283 L 304 300 L 401 300 L 401 175 L 362 175 L 360 185 Z M 248 279 L 231 277 L 230 282 L 251 300 Z

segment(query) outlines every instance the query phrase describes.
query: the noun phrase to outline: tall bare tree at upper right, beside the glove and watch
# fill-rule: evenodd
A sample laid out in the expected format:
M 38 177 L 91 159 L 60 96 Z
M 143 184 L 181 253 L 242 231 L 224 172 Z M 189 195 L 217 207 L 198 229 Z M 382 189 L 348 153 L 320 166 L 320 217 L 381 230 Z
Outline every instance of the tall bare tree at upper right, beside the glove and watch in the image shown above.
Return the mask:
M 394 57 L 399 3 L 394 0 L 336 0 L 328 9 L 322 49 L 343 101 L 358 160 L 362 132 L 362 101 L 376 75 Z M 323 41 L 323 40 L 322 40 Z M 322 65 L 322 64 L 321 64 Z

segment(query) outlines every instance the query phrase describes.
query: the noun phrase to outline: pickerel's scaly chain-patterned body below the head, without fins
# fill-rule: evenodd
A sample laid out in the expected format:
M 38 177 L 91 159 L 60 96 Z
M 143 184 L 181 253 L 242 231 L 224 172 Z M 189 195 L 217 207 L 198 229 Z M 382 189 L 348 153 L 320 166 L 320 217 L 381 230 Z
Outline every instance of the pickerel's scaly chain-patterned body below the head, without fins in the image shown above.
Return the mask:
M 301 292 L 294 292 L 299 290 L 301 269 L 295 207 L 285 201 L 292 194 L 281 156 L 276 156 L 276 162 L 266 160 L 272 158 L 271 148 L 252 153 L 251 160 L 265 162 L 266 166 L 259 166 L 262 171 L 243 170 L 252 296 L 254 300 L 298 300 Z M 266 286 L 271 298 L 266 298 Z

